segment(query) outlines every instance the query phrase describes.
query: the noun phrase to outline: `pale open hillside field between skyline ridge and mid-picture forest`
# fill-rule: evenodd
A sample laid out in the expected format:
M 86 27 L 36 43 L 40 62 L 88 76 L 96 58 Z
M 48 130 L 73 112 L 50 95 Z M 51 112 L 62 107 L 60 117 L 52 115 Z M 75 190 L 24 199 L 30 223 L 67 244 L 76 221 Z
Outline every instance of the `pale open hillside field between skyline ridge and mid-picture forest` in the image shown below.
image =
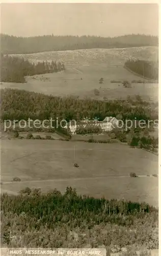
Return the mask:
M 123 68 L 124 62 L 128 58 L 154 61 L 158 58 L 157 50 L 157 47 L 133 47 L 17 54 L 16 56 L 31 62 L 61 60 L 65 64 L 66 71 L 27 77 L 26 83 L 3 83 L 2 88 L 97 99 L 126 98 L 128 95 L 139 94 L 143 99 L 157 101 L 158 84 L 156 83 L 132 83 L 131 88 L 123 88 L 122 84 L 111 83 L 112 80 L 140 80 L 139 76 Z M 104 79 L 103 84 L 99 84 L 101 77 Z M 94 89 L 100 90 L 99 96 L 94 95 Z

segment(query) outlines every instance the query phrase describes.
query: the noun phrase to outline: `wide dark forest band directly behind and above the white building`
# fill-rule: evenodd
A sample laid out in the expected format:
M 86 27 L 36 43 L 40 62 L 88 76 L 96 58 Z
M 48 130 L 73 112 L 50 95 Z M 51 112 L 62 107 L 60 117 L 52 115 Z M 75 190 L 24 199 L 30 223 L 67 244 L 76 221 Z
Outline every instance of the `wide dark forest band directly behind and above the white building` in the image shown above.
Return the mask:
M 62 98 L 17 89 L 1 90 L 1 110 L 2 120 L 28 120 L 29 117 L 33 120 L 44 120 L 52 117 L 59 121 L 70 121 L 97 117 L 101 121 L 106 116 L 117 117 L 119 114 L 123 120 L 158 119 L 158 114 L 152 110 L 150 103 L 144 104 L 141 99 L 103 101 L 78 97 Z

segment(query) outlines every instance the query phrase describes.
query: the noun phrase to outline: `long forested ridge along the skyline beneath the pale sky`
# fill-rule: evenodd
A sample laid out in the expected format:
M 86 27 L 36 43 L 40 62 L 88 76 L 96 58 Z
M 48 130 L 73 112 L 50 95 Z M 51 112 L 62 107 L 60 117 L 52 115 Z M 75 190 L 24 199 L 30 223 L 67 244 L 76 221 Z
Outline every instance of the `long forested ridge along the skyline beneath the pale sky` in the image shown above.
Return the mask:
M 128 48 L 158 46 L 158 37 L 150 35 L 100 36 L 55 36 L 16 37 L 0 35 L 1 51 L 4 54 L 28 54 L 47 51 L 65 51 L 94 48 Z

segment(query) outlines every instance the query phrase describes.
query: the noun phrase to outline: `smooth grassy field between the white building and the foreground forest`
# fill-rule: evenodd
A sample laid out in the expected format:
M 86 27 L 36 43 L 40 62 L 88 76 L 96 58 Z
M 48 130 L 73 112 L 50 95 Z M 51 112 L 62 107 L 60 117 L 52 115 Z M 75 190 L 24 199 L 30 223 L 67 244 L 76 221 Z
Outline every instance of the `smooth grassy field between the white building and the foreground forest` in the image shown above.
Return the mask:
M 2 193 L 26 186 L 64 192 L 72 186 L 80 194 L 158 206 L 158 178 L 147 177 L 158 174 L 158 157 L 138 148 L 50 140 L 2 140 L 1 148 Z M 130 178 L 130 172 L 140 177 Z M 14 177 L 21 182 L 12 182 Z

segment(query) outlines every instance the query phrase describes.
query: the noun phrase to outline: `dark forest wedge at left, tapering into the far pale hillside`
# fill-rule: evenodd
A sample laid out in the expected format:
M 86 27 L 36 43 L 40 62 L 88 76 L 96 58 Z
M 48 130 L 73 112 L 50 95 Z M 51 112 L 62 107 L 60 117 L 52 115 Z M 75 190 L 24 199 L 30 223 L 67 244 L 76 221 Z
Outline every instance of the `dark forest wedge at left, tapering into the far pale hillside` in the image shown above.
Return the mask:
M 25 82 L 25 76 L 53 73 L 65 70 L 60 61 L 43 61 L 30 63 L 23 58 L 11 57 L 1 54 L 1 76 L 2 82 Z

